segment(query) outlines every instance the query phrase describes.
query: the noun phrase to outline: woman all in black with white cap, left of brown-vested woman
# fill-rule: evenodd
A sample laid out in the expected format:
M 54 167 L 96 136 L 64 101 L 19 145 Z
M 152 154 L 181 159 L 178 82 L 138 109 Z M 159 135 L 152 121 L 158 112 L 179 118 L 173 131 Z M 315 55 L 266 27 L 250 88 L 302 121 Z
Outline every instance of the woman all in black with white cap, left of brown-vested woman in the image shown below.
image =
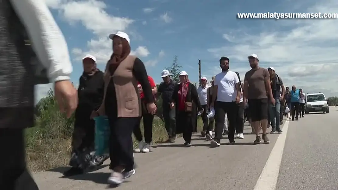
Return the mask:
M 65 176 L 82 174 L 93 161 L 95 121 L 90 115 L 100 107 L 103 99 L 103 72 L 96 68 L 96 58 L 87 54 L 82 63 L 70 160 L 72 167 L 64 173 Z

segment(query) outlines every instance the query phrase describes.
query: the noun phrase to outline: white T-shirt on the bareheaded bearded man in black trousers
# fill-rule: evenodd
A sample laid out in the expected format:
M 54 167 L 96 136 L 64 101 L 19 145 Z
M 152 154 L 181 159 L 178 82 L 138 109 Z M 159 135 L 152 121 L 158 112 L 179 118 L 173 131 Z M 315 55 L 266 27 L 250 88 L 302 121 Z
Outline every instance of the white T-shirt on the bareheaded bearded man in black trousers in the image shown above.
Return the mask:
M 235 84 L 239 83 L 238 76 L 233 71 L 221 72 L 215 77 L 217 85 L 217 101 L 235 102 L 237 90 Z

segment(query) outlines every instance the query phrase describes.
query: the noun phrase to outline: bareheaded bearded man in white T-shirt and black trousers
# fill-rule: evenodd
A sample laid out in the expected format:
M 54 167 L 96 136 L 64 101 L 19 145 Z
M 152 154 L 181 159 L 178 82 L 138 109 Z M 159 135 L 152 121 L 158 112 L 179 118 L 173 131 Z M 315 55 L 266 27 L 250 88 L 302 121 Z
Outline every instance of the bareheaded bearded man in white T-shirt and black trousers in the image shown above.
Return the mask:
M 211 141 L 212 146 L 220 146 L 222 138 L 224 117 L 227 114 L 229 120 L 228 139 L 230 143 L 235 143 L 236 117 L 238 114 L 238 104 L 241 97 L 240 81 L 237 74 L 229 71 L 229 58 L 221 57 L 219 65 L 222 72 L 215 77 L 213 94 L 217 94 L 211 101 L 211 107 L 215 106 L 216 111 L 216 127 L 215 138 Z

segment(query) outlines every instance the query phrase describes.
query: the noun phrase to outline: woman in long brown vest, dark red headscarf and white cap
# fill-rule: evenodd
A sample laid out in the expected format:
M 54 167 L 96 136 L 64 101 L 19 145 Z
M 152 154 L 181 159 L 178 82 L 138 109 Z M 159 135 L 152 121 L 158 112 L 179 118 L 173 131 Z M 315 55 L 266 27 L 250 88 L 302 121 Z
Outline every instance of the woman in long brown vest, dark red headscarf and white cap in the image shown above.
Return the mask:
M 107 115 L 111 129 L 110 169 L 108 183 L 119 185 L 125 178 L 135 174 L 131 134 L 139 125 L 142 114 L 138 94 L 138 82 L 142 85 L 144 103 L 149 113 L 155 114 L 156 106 L 143 62 L 130 54 L 128 34 L 110 34 L 113 54 L 104 73 L 104 97 L 100 108 L 92 117 Z

